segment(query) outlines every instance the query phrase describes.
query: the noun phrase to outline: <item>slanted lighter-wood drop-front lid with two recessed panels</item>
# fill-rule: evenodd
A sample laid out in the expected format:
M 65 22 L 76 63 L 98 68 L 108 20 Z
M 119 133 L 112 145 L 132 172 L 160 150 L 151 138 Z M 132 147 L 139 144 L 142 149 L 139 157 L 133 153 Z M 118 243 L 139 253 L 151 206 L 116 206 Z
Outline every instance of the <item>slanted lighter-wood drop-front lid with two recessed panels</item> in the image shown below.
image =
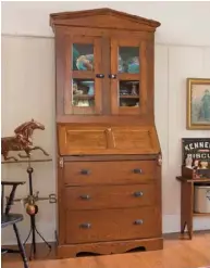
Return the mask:
M 60 155 L 158 154 L 155 126 L 58 126 Z

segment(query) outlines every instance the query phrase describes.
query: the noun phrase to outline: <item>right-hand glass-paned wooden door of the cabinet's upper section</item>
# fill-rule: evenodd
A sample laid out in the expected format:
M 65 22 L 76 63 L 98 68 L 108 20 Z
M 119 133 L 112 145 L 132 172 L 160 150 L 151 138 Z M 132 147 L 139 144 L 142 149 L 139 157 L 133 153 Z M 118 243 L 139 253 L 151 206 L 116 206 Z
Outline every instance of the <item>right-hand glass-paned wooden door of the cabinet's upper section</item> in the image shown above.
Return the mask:
M 144 113 L 146 105 L 145 46 L 140 40 L 111 40 L 112 114 Z

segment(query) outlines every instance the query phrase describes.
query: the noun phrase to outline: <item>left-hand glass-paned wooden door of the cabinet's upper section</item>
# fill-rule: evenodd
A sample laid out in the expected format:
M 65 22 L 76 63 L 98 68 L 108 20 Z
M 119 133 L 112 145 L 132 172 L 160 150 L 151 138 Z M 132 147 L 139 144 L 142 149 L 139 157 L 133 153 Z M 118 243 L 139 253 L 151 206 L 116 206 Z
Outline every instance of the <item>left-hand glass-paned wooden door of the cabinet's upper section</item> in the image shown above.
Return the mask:
M 65 114 L 100 114 L 103 78 L 100 38 L 73 37 L 66 49 Z

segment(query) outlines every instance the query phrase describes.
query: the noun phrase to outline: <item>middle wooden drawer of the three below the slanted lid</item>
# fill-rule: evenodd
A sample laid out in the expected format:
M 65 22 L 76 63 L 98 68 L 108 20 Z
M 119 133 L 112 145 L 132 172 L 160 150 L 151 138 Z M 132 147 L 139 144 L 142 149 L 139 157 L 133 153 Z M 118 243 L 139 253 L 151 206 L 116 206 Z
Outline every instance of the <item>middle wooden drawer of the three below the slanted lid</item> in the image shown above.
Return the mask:
M 70 187 L 63 193 L 63 205 L 72 210 L 153 206 L 157 195 L 156 183 Z

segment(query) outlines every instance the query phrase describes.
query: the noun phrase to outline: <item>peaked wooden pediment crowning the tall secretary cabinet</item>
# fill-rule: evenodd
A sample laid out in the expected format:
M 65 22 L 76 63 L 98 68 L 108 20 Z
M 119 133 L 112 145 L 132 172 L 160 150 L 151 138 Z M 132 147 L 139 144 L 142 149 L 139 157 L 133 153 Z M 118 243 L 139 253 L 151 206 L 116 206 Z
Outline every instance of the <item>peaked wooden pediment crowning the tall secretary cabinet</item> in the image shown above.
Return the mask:
M 50 14 L 50 25 L 155 31 L 159 22 L 111 9 Z

